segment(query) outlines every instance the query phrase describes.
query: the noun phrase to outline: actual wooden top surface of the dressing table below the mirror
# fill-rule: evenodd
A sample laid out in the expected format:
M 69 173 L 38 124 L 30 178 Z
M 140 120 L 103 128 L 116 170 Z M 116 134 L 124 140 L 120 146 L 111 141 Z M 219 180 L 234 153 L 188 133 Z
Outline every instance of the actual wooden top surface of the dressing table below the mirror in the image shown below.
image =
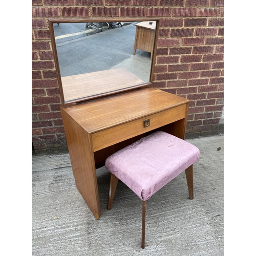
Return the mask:
M 188 99 L 146 87 L 61 108 L 88 133 L 94 133 L 187 102 Z

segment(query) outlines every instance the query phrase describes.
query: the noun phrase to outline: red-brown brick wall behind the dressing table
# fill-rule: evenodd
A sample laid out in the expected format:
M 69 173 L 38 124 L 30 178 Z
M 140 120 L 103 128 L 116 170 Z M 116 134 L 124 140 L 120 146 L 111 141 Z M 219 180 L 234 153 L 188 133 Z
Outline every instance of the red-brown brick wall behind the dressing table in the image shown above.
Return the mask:
M 157 17 L 153 86 L 190 100 L 188 137 L 216 135 L 223 110 L 224 0 L 32 0 L 32 143 L 67 151 L 48 18 Z

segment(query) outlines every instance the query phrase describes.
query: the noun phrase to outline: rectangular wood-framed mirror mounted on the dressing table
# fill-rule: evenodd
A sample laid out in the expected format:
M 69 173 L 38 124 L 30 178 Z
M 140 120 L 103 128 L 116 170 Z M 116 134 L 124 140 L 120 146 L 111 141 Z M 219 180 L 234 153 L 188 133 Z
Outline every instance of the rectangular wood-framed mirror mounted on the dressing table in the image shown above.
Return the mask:
M 147 86 L 157 20 L 49 20 L 62 104 Z

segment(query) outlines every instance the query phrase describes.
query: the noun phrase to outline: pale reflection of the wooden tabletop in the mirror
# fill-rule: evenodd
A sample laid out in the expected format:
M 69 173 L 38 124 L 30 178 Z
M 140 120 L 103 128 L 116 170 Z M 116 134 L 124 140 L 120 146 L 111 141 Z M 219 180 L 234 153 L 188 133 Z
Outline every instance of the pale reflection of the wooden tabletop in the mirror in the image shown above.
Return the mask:
M 125 68 L 61 77 L 65 103 L 144 84 Z

